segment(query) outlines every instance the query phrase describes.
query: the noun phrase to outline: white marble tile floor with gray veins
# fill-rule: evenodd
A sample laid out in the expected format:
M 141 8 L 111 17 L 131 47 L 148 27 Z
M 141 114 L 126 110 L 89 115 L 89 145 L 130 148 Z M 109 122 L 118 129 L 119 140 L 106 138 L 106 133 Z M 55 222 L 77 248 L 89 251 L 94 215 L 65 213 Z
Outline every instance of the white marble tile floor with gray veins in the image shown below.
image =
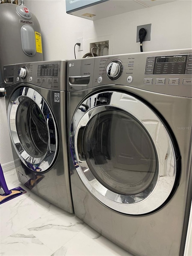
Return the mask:
M 0 205 L 0 255 L 131 256 L 74 214 L 32 193 L 15 170 L 4 176 L 9 189 L 21 186 L 27 193 Z

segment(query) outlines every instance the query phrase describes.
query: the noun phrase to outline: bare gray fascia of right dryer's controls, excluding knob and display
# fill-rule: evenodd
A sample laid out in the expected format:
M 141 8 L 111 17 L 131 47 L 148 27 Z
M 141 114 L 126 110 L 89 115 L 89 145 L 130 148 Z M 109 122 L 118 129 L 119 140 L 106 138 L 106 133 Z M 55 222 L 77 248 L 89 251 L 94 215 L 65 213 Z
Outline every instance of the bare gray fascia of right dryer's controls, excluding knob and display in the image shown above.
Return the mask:
M 156 74 L 156 75 L 145 75 L 146 60 L 150 56 L 167 56 L 167 55 L 191 55 L 191 49 L 184 51 L 172 50 L 172 51 L 161 51 L 161 52 L 147 52 L 147 53 L 132 53 L 125 55 L 116 56 L 104 56 L 95 58 L 95 68 L 93 77 L 93 87 L 101 86 L 105 84 L 117 84 L 127 85 L 134 88 L 143 89 L 150 92 L 158 92 L 167 95 L 175 95 L 182 97 L 192 97 L 192 75 L 190 74 Z M 122 61 L 124 70 L 122 76 L 116 80 L 111 81 L 106 74 L 106 68 L 109 62 L 113 59 L 119 59 Z M 132 77 L 132 82 L 128 83 L 128 77 Z M 102 77 L 102 82 L 98 82 L 98 78 Z M 145 81 L 144 81 L 145 79 Z M 157 80 L 156 80 L 157 79 Z M 169 80 L 179 79 L 179 84 L 169 84 Z M 183 84 L 183 80 L 187 79 L 189 83 Z M 149 80 L 152 84 L 144 84 Z M 164 82 L 162 81 L 165 81 Z M 159 82 L 159 83 L 158 83 Z

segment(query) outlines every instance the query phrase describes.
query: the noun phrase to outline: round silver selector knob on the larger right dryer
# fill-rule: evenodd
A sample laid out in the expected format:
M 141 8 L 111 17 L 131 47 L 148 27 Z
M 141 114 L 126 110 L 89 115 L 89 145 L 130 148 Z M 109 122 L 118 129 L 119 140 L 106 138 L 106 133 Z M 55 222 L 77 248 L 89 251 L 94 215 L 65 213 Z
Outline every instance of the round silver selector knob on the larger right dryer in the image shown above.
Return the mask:
M 107 66 L 107 77 L 110 80 L 117 80 L 123 73 L 123 64 L 120 60 L 116 59 L 110 62 Z

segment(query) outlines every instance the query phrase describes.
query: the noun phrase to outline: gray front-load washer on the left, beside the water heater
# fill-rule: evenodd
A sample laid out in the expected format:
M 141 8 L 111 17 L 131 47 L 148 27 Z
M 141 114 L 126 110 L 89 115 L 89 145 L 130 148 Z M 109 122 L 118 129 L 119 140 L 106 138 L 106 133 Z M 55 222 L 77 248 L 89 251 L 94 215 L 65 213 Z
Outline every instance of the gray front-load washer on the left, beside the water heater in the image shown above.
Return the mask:
M 73 212 L 66 134 L 67 61 L 4 66 L 5 100 L 18 179 Z

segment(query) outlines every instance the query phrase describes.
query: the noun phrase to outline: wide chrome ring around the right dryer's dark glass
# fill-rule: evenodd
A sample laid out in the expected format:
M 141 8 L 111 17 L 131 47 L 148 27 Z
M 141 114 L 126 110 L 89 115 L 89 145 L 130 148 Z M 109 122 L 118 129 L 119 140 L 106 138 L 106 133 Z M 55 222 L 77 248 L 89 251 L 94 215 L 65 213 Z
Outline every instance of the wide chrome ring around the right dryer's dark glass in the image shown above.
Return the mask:
M 82 117 L 79 119 L 73 118 L 74 129 L 74 162 L 76 165 L 76 171 L 84 183 L 85 187 L 93 194 L 99 201 L 106 206 L 125 214 L 140 215 L 154 211 L 160 207 L 169 197 L 173 189 L 176 179 L 176 156 L 173 149 L 171 138 L 158 116 L 150 109 L 146 104 L 137 98 L 121 92 L 112 92 L 113 96 L 110 104 L 91 107 L 85 113 L 82 113 Z M 106 92 L 102 92 L 106 93 Z M 91 97 L 97 98 L 98 94 Z M 142 125 L 146 128 L 150 134 L 158 155 L 158 179 L 154 189 L 148 195 L 148 197 L 137 198 L 133 195 L 135 203 L 127 203 L 126 196 L 122 202 L 122 195 L 115 194 L 113 191 L 105 188 L 91 173 L 86 161 L 80 161 L 77 152 L 77 136 L 79 129 L 85 126 L 96 113 L 105 111 L 107 107 L 118 108 L 127 111 L 134 116 Z M 150 125 L 150 120 L 156 124 Z M 167 148 L 166 148 L 167 144 Z M 169 152 L 167 151 L 169 149 Z M 90 182 L 91 180 L 91 182 Z M 105 195 L 107 192 L 107 196 Z M 121 197 L 120 197 L 121 196 Z M 115 198 L 115 199 L 112 199 Z

